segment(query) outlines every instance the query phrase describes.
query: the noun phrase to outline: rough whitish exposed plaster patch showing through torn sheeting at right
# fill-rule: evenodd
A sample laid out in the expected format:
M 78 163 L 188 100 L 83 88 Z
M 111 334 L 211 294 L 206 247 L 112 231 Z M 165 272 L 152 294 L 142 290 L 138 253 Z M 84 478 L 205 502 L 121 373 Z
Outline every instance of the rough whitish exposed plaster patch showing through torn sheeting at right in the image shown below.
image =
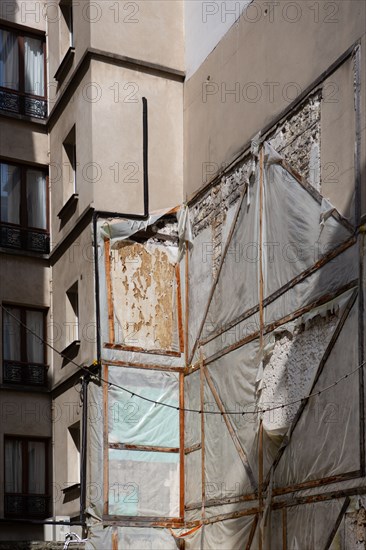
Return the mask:
M 274 406 L 300 399 L 308 394 L 320 360 L 337 325 L 336 315 L 315 317 L 308 328 L 298 327 L 291 334 L 282 332 L 264 368 L 261 405 Z M 299 403 L 264 415 L 268 431 L 284 433 L 290 426 Z

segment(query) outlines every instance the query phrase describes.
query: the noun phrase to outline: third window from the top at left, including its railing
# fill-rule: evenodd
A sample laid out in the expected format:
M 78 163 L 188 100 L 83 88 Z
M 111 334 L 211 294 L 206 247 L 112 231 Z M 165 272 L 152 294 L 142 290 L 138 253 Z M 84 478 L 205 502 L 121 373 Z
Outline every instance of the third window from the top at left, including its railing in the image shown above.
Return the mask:
M 3 381 L 10 384 L 45 386 L 46 348 L 37 336 L 45 340 L 46 312 L 15 306 L 5 308 Z

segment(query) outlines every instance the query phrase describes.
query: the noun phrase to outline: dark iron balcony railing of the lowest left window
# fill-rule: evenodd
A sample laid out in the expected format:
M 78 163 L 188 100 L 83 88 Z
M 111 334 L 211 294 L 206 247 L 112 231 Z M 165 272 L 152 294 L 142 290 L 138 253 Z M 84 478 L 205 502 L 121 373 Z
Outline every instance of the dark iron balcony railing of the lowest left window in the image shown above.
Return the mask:
M 5 517 L 46 518 L 50 497 L 5 493 Z

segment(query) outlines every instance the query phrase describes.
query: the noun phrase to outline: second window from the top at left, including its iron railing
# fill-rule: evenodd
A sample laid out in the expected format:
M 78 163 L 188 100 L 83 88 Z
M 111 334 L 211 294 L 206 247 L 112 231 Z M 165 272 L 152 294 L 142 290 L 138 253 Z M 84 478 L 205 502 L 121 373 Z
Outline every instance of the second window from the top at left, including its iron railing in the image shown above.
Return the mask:
M 49 252 L 45 170 L 0 163 L 0 245 Z

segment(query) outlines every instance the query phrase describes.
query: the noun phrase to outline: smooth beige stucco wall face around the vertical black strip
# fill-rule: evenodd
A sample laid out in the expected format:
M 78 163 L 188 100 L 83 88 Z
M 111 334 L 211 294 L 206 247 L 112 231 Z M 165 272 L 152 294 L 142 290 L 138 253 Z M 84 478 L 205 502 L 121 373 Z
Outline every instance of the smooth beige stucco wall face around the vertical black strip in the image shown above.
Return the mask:
M 182 83 L 99 61 L 91 68 L 92 81 L 100 83 L 92 105 L 96 209 L 143 213 L 142 97 L 148 102 L 150 211 L 176 206 L 183 185 Z

